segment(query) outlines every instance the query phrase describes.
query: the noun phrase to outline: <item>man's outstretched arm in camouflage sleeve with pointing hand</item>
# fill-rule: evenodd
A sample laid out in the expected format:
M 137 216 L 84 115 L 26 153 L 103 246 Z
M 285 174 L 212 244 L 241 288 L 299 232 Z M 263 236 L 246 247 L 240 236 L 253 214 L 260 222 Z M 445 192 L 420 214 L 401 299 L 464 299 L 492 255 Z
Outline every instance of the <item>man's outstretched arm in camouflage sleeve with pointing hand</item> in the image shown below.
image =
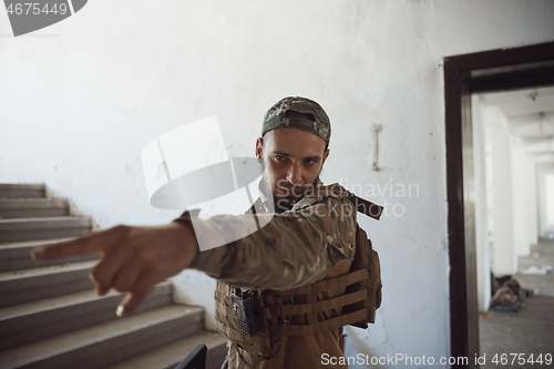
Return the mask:
M 232 244 L 198 252 L 189 225 L 173 222 L 153 227 L 116 226 L 33 250 L 37 259 L 99 254 L 91 270 L 96 293 L 129 293 L 117 315 L 131 314 L 156 284 L 194 267 L 250 288 L 286 289 L 322 277 L 338 262 L 353 258 L 356 221 L 346 199 L 328 198 L 296 212 L 276 215 L 260 230 Z M 260 215 L 268 216 L 268 215 Z M 242 216 L 205 221 L 203 229 L 239 229 Z

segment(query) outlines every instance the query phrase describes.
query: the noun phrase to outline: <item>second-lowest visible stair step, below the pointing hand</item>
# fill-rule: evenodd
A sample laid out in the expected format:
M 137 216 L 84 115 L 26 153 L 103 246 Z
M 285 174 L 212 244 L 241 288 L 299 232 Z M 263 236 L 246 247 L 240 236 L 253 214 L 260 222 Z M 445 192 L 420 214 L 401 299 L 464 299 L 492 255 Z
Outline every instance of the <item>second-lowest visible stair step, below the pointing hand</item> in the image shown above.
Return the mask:
M 202 329 L 202 308 L 162 307 L 4 350 L 0 368 L 104 368 Z

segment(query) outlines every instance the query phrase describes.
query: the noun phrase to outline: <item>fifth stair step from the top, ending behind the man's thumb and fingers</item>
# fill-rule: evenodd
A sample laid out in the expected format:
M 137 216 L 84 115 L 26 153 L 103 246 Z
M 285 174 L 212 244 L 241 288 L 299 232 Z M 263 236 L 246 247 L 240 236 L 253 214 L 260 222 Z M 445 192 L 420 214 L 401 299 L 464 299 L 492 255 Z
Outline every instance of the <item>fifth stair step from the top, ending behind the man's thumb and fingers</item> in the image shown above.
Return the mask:
M 66 263 L 0 273 L 0 307 L 92 289 L 89 269 L 95 263 Z

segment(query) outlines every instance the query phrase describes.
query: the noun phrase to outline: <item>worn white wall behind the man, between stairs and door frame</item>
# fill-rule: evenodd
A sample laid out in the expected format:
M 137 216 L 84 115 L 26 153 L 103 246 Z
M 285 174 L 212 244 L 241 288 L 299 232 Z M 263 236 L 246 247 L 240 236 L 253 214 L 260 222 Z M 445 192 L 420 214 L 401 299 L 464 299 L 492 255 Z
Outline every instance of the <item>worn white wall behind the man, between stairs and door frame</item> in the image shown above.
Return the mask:
M 551 41 L 552 13 L 548 0 L 95 0 L 12 38 L 0 12 L 0 182 L 45 183 L 102 227 L 165 223 L 179 212 L 148 205 L 147 142 L 216 114 L 232 153 L 250 154 L 274 102 L 309 96 L 332 121 L 326 182 L 419 186 L 372 198 L 402 216 L 361 221 L 383 304 L 376 327 L 350 330 L 347 353 L 448 356 L 442 58 Z M 208 284 L 187 276 L 179 285 Z

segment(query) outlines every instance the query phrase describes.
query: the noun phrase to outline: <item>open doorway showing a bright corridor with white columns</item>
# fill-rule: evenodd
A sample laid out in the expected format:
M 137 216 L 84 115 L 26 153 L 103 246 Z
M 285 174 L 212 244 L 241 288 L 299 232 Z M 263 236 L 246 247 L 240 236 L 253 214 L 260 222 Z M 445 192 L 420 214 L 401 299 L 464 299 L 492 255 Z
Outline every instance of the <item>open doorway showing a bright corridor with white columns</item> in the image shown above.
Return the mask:
M 480 368 L 548 365 L 554 88 L 474 93 L 472 125 Z

